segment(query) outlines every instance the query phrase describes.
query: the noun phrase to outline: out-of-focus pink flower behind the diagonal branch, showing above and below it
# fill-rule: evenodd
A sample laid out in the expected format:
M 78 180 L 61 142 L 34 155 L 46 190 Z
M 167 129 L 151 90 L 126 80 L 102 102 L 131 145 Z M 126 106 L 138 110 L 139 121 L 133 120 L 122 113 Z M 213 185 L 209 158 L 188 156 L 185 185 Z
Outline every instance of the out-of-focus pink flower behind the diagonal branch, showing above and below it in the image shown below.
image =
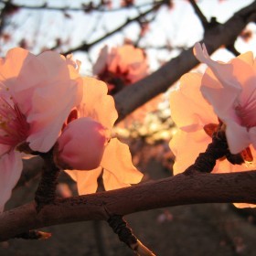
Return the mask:
M 108 84 L 109 94 L 111 95 L 121 91 L 123 87 L 129 86 L 137 80 L 144 79 L 148 73 L 144 50 L 134 48 L 129 44 L 112 49 L 105 46 L 101 49 L 100 56 L 93 67 L 93 74 Z M 151 101 L 145 103 L 127 116 L 122 123 L 119 123 L 118 127 L 127 128 L 132 123 L 144 123 L 146 114 L 156 110 L 161 97 L 162 95 L 156 96 Z

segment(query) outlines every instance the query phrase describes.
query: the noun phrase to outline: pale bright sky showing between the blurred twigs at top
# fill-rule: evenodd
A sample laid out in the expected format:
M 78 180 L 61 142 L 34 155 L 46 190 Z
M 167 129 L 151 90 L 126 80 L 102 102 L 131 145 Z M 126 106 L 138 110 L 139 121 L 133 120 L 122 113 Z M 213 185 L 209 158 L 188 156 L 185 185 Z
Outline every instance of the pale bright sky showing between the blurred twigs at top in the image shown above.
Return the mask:
M 251 4 L 253 0 L 198 0 L 197 5 L 203 14 L 210 19 L 215 16 L 219 22 L 225 22 L 234 12 L 241 7 Z M 50 6 L 70 6 L 78 7 L 81 3 L 89 1 L 70 1 L 70 0 L 51 0 L 48 1 Z M 99 1 L 92 1 L 97 4 Z M 135 1 L 142 5 L 139 11 L 149 8 L 146 3 L 149 0 Z M 34 0 L 14 0 L 14 3 L 25 5 L 42 5 L 45 1 Z M 120 1 L 113 0 L 112 7 L 118 7 Z M 63 12 L 58 11 L 38 11 L 38 10 L 20 10 L 13 16 L 10 16 L 6 33 L 9 33 L 12 39 L 9 42 L 0 40 L 2 54 L 7 49 L 16 47 L 17 43 L 26 37 L 27 45 L 30 51 L 37 54 L 43 48 L 51 48 L 56 44 L 56 39 L 66 43 L 61 48 L 66 51 L 80 45 L 81 42 L 95 40 L 104 35 L 106 31 L 111 31 L 115 27 L 123 24 L 128 17 L 133 18 L 138 15 L 138 10 L 129 8 L 128 10 L 110 11 L 107 13 L 92 12 L 85 14 L 83 11 L 66 12 L 69 17 L 65 17 Z M 236 47 L 240 52 L 254 50 L 256 53 L 256 27 L 250 24 L 248 27 L 253 31 L 253 37 L 248 43 L 241 38 L 236 42 Z M 123 29 L 122 33 L 117 33 L 112 37 L 103 40 L 100 44 L 91 48 L 89 55 L 82 52 L 75 52 L 74 57 L 80 59 L 83 63 L 81 71 L 85 75 L 91 75 L 91 63 L 98 58 L 101 48 L 107 44 L 111 47 L 123 45 L 123 38 L 136 40 L 139 37 L 139 26 L 133 23 L 131 26 Z M 161 63 L 176 57 L 180 50 L 159 49 L 166 44 L 172 47 L 192 47 L 195 42 L 203 37 L 203 28 L 194 14 L 194 10 L 187 0 L 175 0 L 174 7 L 162 7 L 155 20 L 151 23 L 145 37 L 140 40 L 140 46 L 148 48 L 147 56 L 150 60 L 150 69 L 154 71 L 159 68 Z M 213 55 L 214 59 L 226 60 L 233 56 L 226 50 L 221 49 Z

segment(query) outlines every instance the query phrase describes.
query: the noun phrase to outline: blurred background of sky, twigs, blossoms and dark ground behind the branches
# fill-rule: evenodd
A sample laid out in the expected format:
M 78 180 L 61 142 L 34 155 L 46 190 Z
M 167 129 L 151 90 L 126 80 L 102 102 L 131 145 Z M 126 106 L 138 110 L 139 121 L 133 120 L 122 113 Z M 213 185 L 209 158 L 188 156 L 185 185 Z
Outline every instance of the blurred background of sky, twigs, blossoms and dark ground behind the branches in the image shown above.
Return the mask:
M 72 53 L 80 73 L 104 80 L 114 95 L 159 69 L 204 36 L 201 14 L 224 23 L 251 0 L 52 0 L 0 1 L 0 56 L 10 48 L 34 54 L 48 49 Z M 195 5 L 200 12 L 195 9 Z M 212 58 L 228 61 L 256 52 L 256 27 L 250 23 L 233 49 L 219 48 Z M 197 71 L 203 71 L 204 65 Z M 174 155 L 168 147 L 175 124 L 169 110 L 170 89 L 127 116 L 114 135 L 130 145 L 133 164 L 144 181 L 172 176 Z M 40 159 L 26 161 L 24 176 L 7 208 L 33 199 Z M 61 174 L 59 196 L 77 195 L 76 185 Z M 156 255 L 255 255 L 256 212 L 230 204 L 163 208 L 126 219 L 134 234 Z M 9 240 L 0 255 L 133 255 L 104 222 L 71 223 L 44 229 L 49 240 Z

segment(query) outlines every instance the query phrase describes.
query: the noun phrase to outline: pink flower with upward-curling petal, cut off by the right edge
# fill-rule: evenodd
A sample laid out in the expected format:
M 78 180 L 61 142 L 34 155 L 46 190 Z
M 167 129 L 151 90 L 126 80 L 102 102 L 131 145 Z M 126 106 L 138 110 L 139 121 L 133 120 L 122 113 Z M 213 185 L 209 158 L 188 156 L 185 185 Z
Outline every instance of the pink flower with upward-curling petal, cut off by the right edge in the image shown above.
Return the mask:
M 208 57 L 205 46 L 197 43 L 195 55 L 209 69 L 203 76 L 201 91 L 226 124 L 226 136 L 232 154 L 249 145 L 256 148 L 256 62 L 251 52 L 219 63 Z

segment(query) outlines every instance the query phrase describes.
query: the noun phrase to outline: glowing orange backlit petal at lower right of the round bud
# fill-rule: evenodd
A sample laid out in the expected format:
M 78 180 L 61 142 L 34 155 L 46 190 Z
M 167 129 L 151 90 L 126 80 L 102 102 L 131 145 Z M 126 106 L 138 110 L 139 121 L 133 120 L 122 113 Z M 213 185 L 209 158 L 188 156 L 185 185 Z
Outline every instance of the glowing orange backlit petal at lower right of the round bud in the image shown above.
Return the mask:
M 129 186 L 130 184 L 139 183 L 143 177 L 143 174 L 133 166 L 128 145 L 121 143 L 116 138 L 112 139 L 106 146 L 101 160 L 101 166 L 112 173 L 119 181 L 119 184 L 123 184 L 122 186 L 124 184 Z M 105 174 L 106 176 L 108 175 Z M 117 185 L 117 183 L 115 184 Z M 112 187 L 112 184 L 104 182 L 104 186 L 107 189 L 108 187 Z

